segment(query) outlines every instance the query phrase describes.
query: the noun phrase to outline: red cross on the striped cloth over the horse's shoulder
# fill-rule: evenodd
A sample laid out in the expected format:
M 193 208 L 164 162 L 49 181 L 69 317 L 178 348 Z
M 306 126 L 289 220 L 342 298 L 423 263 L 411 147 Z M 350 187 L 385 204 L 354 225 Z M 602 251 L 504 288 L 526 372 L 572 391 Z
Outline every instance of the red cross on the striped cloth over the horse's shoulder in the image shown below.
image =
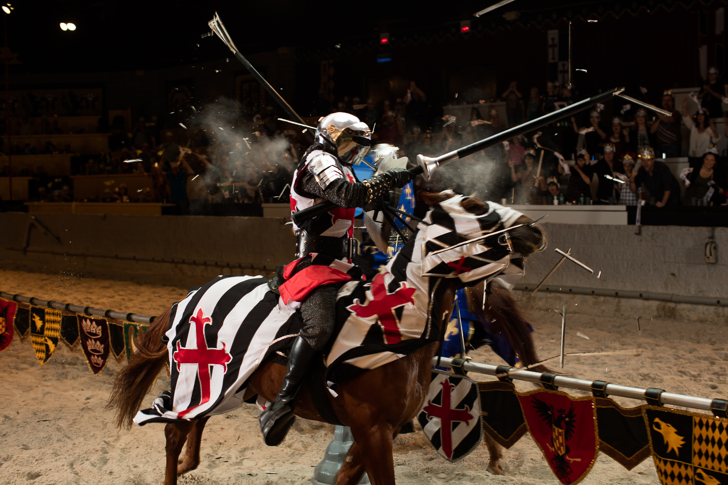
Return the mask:
M 412 295 L 416 289 L 408 288 L 404 281 L 400 285 L 400 288 L 397 288 L 394 293 L 387 293 L 384 276 L 378 274 L 371 281 L 371 301 L 366 305 L 361 305 L 359 300 L 354 300 L 354 305 L 347 307 L 347 310 L 362 318 L 376 315 L 381 329 L 384 331 L 384 342 L 388 345 L 402 341 L 402 330 L 395 315 L 395 308 L 407 303 L 414 305 Z

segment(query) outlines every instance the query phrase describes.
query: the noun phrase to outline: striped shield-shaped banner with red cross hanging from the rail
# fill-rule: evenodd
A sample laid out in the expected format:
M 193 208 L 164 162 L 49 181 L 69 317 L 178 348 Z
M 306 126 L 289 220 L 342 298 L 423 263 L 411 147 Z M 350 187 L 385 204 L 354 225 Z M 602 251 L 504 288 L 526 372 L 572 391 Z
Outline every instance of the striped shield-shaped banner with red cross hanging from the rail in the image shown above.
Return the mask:
M 483 437 L 478 382 L 433 370 L 430 391 L 417 420 L 424 436 L 442 457 L 451 462 L 466 457 Z

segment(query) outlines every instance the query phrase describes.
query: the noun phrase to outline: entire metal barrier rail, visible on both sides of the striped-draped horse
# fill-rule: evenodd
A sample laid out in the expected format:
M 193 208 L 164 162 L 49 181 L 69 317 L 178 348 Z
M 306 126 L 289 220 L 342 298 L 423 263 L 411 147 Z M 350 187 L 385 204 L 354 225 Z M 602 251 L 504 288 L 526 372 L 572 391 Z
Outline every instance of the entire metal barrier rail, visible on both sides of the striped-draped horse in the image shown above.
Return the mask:
M 86 315 L 104 316 L 106 318 L 116 318 L 118 320 L 131 321 L 138 324 L 151 324 L 156 316 L 138 315 L 136 313 L 124 313 L 115 310 L 102 310 L 100 308 L 92 308 L 89 306 L 72 305 L 71 303 L 55 302 L 53 300 L 41 300 L 36 297 L 24 297 L 20 294 L 12 294 L 0 292 L 0 298 L 12 300 L 15 302 L 28 303 L 34 306 L 45 308 L 53 308 L 55 310 L 68 310 L 75 313 L 85 313 Z M 432 358 L 433 366 L 450 367 L 451 369 L 462 369 L 467 372 L 475 372 L 477 374 L 486 374 L 499 379 L 505 380 L 525 380 L 528 382 L 536 382 L 545 387 L 550 388 L 571 388 L 590 391 L 597 397 L 620 396 L 630 399 L 638 399 L 647 401 L 649 404 L 671 404 L 673 406 L 683 406 L 692 409 L 702 409 L 710 411 L 716 416 L 728 417 L 728 401 L 721 398 L 698 398 L 695 396 L 685 396 L 684 394 L 675 394 L 665 392 L 660 388 L 632 388 L 626 385 L 612 384 L 604 380 L 583 380 L 574 377 L 566 377 L 558 374 L 550 374 L 549 372 L 533 372 L 529 370 L 521 370 L 509 366 L 492 366 L 490 364 L 478 364 L 478 362 L 467 361 L 459 358 L 438 357 Z

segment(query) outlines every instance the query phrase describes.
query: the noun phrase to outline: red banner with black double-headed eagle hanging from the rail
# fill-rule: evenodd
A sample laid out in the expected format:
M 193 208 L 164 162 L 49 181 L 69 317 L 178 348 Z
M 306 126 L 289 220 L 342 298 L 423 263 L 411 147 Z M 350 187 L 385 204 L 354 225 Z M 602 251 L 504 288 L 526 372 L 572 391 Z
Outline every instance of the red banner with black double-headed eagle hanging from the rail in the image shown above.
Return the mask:
M 531 437 L 562 484 L 582 480 L 599 452 L 592 397 L 574 398 L 558 390 L 518 394 Z

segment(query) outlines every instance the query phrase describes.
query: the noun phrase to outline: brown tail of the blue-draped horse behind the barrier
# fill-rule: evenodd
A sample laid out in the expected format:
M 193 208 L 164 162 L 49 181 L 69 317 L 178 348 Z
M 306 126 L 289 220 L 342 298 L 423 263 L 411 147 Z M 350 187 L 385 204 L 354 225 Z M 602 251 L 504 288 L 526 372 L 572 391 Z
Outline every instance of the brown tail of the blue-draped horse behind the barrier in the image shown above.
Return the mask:
M 483 301 L 480 300 L 483 295 L 481 285 L 482 283 L 475 286 L 475 291 L 471 293 L 473 300 L 471 305 L 475 307 L 480 320 L 488 323 L 488 329 L 494 338 L 499 337 L 501 334 L 505 336 L 513 347 L 515 355 L 520 359 L 521 364 L 524 366 L 536 364 L 539 357 L 531 336 L 531 326 L 524 318 L 518 302 L 505 289 L 491 286 L 492 292 L 488 295 L 486 308 L 483 310 Z M 480 288 L 479 291 L 478 288 Z M 478 295 L 478 297 L 475 297 L 475 295 Z M 534 366 L 531 370 L 534 372 L 550 372 L 546 366 Z

